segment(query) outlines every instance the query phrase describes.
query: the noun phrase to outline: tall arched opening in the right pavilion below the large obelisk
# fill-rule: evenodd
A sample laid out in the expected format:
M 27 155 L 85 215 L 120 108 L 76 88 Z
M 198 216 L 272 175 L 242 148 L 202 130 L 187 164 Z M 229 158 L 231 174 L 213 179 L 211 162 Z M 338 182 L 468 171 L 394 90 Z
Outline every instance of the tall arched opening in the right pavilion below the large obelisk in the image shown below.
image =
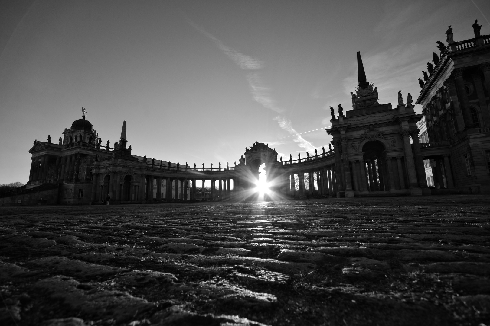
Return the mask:
M 385 146 L 378 140 L 369 141 L 363 146 L 364 169 L 367 176 L 369 191 L 386 191 L 388 186 L 388 171 L 386 164 Z

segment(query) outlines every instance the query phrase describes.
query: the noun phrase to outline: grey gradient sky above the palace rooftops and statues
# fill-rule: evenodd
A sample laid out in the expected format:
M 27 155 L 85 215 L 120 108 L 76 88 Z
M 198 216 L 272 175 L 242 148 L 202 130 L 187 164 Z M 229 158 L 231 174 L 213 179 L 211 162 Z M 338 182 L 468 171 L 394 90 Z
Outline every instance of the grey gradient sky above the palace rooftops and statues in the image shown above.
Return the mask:
M 103 144 L 125 120 L 132 153 L 157 160 L 233 166 L 255 141 L 321 152 L 329 107 L 351 109 L 357 51 L 395 107 L 398 90 L 417 99 L 447 26 L 462 41 L 475 19 L 490 34 L 490 1 L 4 0 L 0 184 L 27 182 L 33 141 L 82 106 Z

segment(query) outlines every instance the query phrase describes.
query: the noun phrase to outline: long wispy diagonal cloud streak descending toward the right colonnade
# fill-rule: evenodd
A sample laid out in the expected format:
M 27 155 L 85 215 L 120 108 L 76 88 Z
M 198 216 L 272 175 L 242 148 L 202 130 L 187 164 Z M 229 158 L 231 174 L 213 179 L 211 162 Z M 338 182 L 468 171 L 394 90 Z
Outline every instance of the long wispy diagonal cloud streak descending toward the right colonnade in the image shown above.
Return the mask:
M 219 39 L 217 39 L 214 35 L 208 33 L 202 27 L 197 25 L 195 22 L 189 20 L 189 23 L 196 28 L 197 31 L 204 34 L 206 37 L 211 39 L 218 48 L 223 51 L 230 59 L 232 59 L 240 68 L 245 70 L 258 70 L 264 66 L 264 63 L 256 58 L 251 56 L 247 56 L 242 54 L 229 46 L 224 45 Z M 250 93 L 252 94 L 252 98 L 255 102 L 259 103 L 266 109 L 270 109 L 276 113 L 284 113 L 284 109 L 280 108 L 277 105 L 277 102 L 270 95 L 270 87 L 264 83 L 262 76 L 259 71 L 249 72 L 246 75 L 246 80 L 248 82 L 248 86 L 250 87 Z M 284 116 L 276 116 L 274 118 L 275 121 L 279 124 L 279 127 L 287 132 L 289 132 L 292 136 L 294 136 L 294 142 L 304 150 L 313 150 L 313 145 L 305 140 L 301 135 L 298 134 L 296 130 L 292 127 L 291 120 Z

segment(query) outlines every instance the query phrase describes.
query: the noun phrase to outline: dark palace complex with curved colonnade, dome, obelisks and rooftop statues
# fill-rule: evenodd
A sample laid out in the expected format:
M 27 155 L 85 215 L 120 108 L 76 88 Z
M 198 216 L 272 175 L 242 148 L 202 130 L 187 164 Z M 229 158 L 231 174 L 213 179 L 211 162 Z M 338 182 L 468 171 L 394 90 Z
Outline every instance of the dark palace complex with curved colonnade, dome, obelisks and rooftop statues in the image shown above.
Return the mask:
M 275 149 L 255 142 L 234 166 L 197 168 L 132 154 L 125 121 L 119 142 L 101 144 L 83 109 L 57 144 L 50 136 L 34 142 L 29 181 L 0 194 L 0 205 L 101 204 L 108 194 L 113 203 L 256 200 L 262 163 L 270 200 L 490 193 L 490 35 L 478 29 L 454 42 L 452 30 L 446 34 L 448 45 L 439 42 L 435 66 L 419 80 L 420 114 L 401 90 L 395 108 L 380 104 L 358 52 L 352 109 L 344 114 L 339 105 L 335 117 L 331 108 L 328 151 L 278 160 Z M 210 192 L 197 193 L 206 180 Z

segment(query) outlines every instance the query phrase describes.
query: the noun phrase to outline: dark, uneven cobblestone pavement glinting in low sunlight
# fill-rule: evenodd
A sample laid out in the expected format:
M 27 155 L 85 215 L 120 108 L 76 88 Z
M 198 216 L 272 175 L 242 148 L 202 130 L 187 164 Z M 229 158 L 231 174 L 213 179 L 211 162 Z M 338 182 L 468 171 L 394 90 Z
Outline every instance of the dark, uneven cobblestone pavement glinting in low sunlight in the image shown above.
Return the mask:
M 489 325 L 489 196 L 0 208 L 1 325 Z

